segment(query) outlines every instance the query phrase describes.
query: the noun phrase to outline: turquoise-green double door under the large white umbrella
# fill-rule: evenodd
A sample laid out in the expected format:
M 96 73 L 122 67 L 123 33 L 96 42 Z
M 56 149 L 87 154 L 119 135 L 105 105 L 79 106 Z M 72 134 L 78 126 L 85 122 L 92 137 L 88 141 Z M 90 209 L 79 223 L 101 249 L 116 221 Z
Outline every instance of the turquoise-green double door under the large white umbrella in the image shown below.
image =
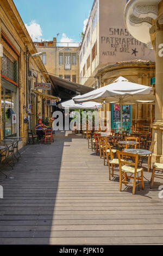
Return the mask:
M 123 121 L 123 127 L 126 131 L 127 129 L 130 129 L 132 124 L 132 109 L 131 105 L 123 105 L 122 106 L 122 121 Z M 117 129 L 121 127 L 121 111 L 120 111 L 120 105 L 117 104 L 111 104 L 111 129 Z

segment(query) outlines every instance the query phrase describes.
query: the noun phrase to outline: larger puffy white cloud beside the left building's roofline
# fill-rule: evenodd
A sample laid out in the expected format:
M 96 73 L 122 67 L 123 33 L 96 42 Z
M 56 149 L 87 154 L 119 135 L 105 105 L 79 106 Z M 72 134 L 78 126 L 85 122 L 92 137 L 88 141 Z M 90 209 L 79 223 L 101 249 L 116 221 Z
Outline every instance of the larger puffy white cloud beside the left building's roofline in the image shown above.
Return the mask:
M 41 26 L 37 24 L 35 20 L 31 21 L 29 25 L 25 24 L 25 26 L 33 41 L 38 41 L 38 42 L 41 41 L 42 29 L 41 29 Z

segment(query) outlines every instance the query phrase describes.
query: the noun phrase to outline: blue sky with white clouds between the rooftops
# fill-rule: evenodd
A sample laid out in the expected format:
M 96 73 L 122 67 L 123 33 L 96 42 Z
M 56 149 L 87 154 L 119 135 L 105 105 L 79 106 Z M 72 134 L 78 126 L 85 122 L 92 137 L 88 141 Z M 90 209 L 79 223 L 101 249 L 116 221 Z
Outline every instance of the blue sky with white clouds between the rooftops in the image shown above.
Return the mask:
M 14 0 L 33 41 L 79 42 L 93 0 Z M 36 39 L 37 38 L 37 39 Z

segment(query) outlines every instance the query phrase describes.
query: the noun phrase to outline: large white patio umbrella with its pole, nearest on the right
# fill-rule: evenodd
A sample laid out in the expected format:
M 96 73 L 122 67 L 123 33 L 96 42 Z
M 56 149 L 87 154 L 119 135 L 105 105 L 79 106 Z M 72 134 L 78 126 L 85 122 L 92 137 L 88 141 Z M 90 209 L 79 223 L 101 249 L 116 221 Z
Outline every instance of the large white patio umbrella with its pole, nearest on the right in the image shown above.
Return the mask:
M 85 102 L 94 100 L 96 102 L 110 103 L 118 101 L 121 105 L 121 129 L 122 129 L 122 103 L 136 102 L 141 100 L 154 101 L 153 88 L 131 83 L 126 78 L 120 76 L 113 83 L 98 88 L 89 93 L 73 97 L 74 102 Z M 137 103 L 137 102 L 136 102 Z

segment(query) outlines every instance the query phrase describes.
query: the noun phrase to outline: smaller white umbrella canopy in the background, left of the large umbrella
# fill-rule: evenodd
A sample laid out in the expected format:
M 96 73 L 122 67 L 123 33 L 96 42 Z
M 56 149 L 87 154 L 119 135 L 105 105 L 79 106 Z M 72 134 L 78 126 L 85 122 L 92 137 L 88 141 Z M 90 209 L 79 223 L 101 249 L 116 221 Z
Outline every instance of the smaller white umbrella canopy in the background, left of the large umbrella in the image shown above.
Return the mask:
M 102 104 L 99 104 L 94 101 L 84 102 L 84 103 L 74 103 L 73 100 L 67 100 L 65 102 L 58 104 L 59 108 L 70 108 L 70 109 L 92 109 L 92 108 L 101 108 Z

